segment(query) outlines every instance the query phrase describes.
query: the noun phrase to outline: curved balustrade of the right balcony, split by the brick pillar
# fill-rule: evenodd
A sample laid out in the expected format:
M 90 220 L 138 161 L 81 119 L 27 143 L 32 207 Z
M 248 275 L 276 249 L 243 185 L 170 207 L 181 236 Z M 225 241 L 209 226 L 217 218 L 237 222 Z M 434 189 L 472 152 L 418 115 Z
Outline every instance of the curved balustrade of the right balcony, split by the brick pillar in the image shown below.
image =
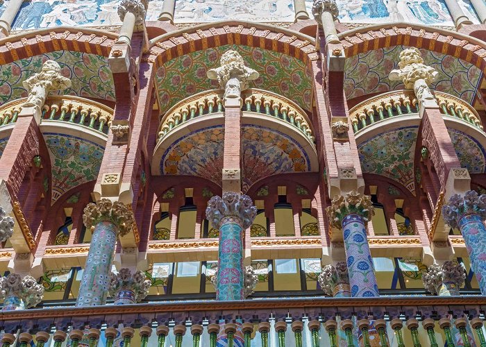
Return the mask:
M 466 121 L 483 130 L 478 112 L 469 103 L 456 96 L 443 92 L 434 92 L 443 115 L 452 116 Z M 353 130 L 357 133 L 367 126 L 398 116 L 406 116 L 419 112 L 417 98 L 411 90 L 397 90 L 374 96 L 358 103 L 349 110 Z

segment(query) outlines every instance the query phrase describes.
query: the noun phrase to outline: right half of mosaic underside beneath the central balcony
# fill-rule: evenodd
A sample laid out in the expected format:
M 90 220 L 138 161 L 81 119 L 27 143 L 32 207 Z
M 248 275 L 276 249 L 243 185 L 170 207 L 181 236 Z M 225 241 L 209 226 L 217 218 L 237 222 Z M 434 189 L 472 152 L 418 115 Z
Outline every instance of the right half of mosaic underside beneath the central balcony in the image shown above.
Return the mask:
M 262 126 L 243 125 L 242 155 L 244 192 L 271 175 L 311 170 L 307 153 L 292 137 Z

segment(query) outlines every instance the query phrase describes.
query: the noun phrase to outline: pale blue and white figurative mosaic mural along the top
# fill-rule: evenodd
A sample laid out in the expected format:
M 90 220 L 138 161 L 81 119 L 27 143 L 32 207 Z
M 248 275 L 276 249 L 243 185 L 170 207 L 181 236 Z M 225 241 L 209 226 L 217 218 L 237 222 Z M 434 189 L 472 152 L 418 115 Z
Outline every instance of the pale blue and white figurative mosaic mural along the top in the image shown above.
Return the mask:
M 121 0 L 31 0 L 22 4 L 13 30 L 52 26 L 111 26 L 121 24 Z M 9 0 L 0 7 L 3 12 Z M 149 1 L 146 20 L 158 19 L 164 0 Z M 305 0 L 309 14 L 312 0 Z M 479 24 L 469 0 L 458 0 L 464 13 Z M 337 0 L 343 23 L 408 22 L 453 26 L 444 0 Z M 249 22 L 294 22 L 294 0 L 176 0 L 174 21 L 215 22 L 241 19 Z

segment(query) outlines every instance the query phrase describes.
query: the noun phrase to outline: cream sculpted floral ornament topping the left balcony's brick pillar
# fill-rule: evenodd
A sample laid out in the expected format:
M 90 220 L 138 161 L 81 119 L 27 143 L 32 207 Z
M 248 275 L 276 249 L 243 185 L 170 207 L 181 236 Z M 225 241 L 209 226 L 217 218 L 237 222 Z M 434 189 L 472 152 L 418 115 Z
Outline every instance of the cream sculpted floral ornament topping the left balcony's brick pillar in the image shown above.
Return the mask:
M 65 90 L 71 87 L 71 80 L 62 76 L 60 66 L 54 60 L 46 60 L 38 74 L 27 78 L 22 85 L 28 91 L 24 107 L 35 107 L 38 112 L 44 106 L 49 92 Z

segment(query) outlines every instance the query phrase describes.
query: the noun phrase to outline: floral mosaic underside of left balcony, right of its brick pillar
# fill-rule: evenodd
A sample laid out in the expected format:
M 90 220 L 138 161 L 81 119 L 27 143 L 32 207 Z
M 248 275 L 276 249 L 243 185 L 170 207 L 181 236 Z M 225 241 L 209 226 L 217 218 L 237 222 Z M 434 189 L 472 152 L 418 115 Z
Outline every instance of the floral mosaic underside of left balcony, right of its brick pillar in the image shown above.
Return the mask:
M 69 189 L 96 180 L 105 149 L 80 137 L 44 133 L 51 157 L 51 192 L 55 203 Z

